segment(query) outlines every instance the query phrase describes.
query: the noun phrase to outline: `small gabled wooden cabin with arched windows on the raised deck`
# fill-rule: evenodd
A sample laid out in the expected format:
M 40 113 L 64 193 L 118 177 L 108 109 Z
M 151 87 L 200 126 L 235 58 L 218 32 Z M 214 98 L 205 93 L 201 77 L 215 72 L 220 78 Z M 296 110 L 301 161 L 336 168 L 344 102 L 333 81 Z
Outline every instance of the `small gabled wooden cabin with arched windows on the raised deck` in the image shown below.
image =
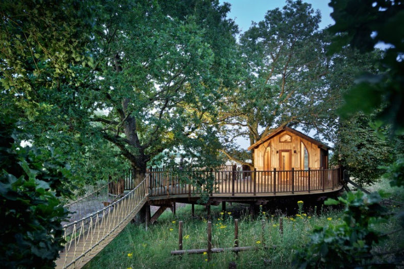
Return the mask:
M 258 171 L 328 169 L 330 147 L 289 127 L 275 129 L 248 147 L 252 149 Z

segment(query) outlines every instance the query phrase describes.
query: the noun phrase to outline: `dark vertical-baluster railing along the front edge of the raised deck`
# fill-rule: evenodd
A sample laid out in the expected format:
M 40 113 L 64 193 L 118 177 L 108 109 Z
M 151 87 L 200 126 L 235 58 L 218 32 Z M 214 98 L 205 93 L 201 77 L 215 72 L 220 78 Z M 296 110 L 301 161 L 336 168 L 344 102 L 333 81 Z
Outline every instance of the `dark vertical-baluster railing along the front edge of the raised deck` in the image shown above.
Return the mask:
M 210 186 L 208 186 L 210 184 Z M 150 196 L 214 194 L 276 195 L 334 190 L 342 186 L 340 168 L 309 170 L 150 171 Z

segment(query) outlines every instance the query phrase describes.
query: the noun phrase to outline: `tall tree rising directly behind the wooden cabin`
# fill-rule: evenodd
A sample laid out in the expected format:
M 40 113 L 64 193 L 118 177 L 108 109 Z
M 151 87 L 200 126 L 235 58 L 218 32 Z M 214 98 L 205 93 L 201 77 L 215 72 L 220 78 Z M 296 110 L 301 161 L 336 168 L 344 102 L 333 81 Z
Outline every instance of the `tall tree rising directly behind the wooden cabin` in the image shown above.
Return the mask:
M 240 36 L 240 59 L 246 72 L 237 90 L 226 96 L 217 119 L 223 152 L 229 158 L 254 168 L 254 154 L 238 149 L 234 139 L 243 137 L 254 144 L 272 128 L 313 127 L 326 117 L 326 111 L 319 115 L 316 109 L 328 91 L 329 72 L 327 36 L 318 30 L 320 19 L 310 4 L 287 1 Z

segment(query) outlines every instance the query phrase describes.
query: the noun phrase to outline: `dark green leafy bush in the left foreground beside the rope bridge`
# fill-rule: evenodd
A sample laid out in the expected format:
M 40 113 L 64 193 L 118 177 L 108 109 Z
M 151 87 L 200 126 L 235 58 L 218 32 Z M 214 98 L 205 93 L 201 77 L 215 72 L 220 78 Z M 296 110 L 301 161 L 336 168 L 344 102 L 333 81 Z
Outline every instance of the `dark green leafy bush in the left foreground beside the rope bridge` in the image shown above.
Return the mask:
M 14 120 L 0 118 L 0 262 L 5 267 L 53 268 L 62 249 L 69 167 L 52 150 L 21 147 Z

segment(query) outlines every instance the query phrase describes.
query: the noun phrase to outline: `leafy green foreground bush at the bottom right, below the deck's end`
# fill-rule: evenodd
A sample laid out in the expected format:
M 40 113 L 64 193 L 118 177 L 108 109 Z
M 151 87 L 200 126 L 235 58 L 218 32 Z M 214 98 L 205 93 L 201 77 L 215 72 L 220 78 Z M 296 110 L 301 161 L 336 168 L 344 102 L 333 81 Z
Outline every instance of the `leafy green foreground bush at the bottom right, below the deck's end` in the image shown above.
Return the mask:
M 379 193 L 347 193 L 338 200 L 328 199 L 326 205 L 344 205 L 343 224 L 317 227 L 304 249 L 297 250 L 293 260 L 300 268 L 356 267 L 368 263 L 371 250 L 379 242 L 375 224 L 388 218 L 379 202 Z

